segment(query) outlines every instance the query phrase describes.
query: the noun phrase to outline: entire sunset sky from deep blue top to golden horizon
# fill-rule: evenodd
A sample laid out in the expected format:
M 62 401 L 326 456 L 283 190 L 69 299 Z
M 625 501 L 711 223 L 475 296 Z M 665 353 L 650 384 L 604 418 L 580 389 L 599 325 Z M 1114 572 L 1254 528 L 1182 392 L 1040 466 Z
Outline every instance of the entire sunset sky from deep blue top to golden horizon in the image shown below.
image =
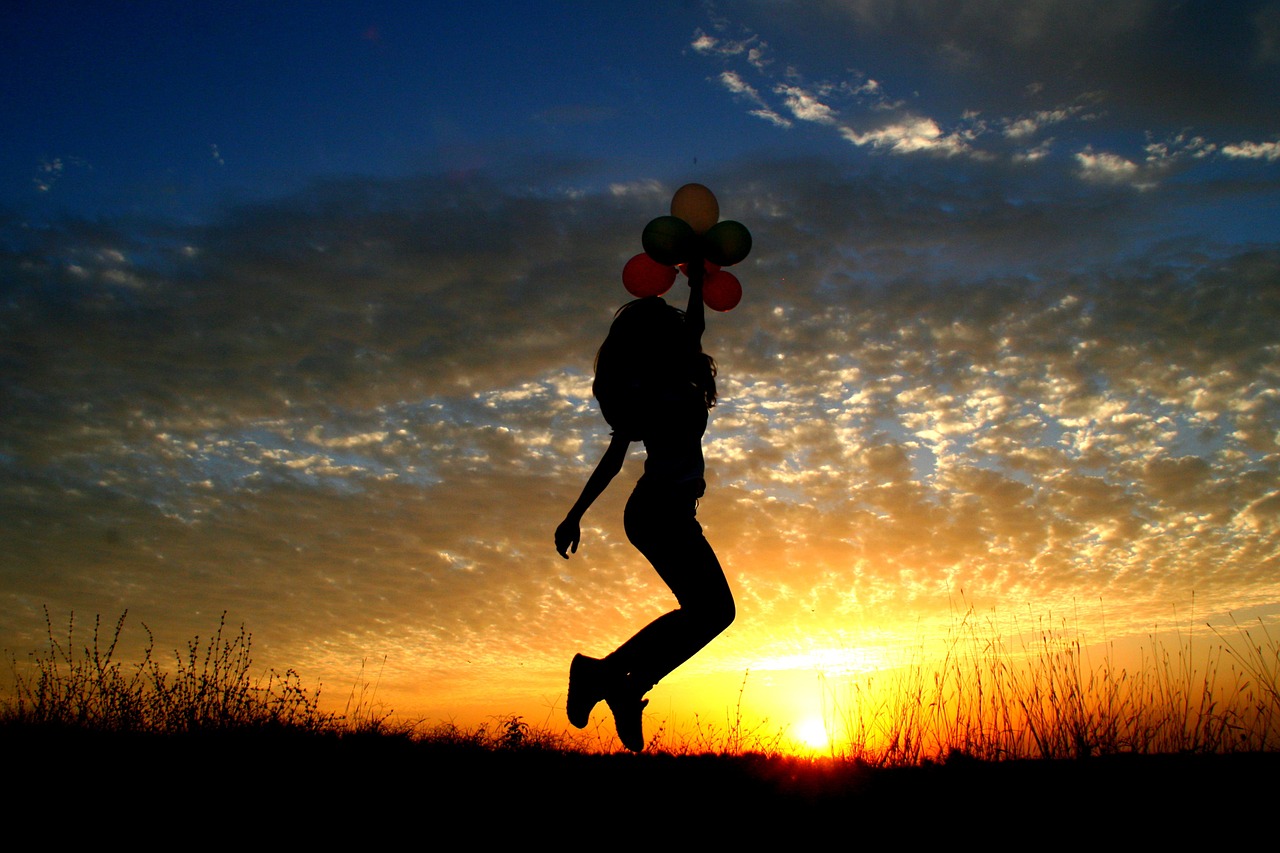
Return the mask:
M 339 706 L 563 726 L 572 654 L 673 606 L 622 533 L 639 450 L 572 560 L 552 534 L 608 443 L 622 265 L 690 181 L 754 236 L 704 338 L 739 616 L 652 719 L 741 689 L 800 725 L 970 608 L 1280 617 L 1280 3 L 6 18 L 19 660 L 46 608 L 127 610 L 128 649 L 225 611 Z

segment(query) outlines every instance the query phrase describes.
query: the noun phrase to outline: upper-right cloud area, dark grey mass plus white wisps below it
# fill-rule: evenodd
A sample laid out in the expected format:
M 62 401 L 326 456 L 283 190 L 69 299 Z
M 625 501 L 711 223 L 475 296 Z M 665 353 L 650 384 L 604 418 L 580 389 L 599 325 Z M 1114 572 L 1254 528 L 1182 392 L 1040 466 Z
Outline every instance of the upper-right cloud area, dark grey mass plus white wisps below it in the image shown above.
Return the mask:
M 1166 14 L 1147 0 L 1047 0 L 1014 12 L 995 3 L 822 3 L 806 6 L 801 29 L 794 15 L 735 6 L 742 22 L 712 18 L 723 41 L 698 31 L 695 44 L 726 65 L 719 79 L 750 114 L 780 127 L 787 115 L 891 155 L 964 154 L 1037 168 L 1070 158 L 1084 181 L 1149 188 L 1184 158 L 1274 159 L 1272 143 L 1224 134 L 1280 126 L 1268 95 L 1280 63 L 1262 59 L 1275 8 L 1192 3 Z M 756 29 L 785 54 L 771 49 L 769 63 L 744 63 L 748 44 L 765 47 Z M 1240 44 L 1256 45 L 1254 59 Z M 1037 141 L 1051 127 L 1059 145 Z

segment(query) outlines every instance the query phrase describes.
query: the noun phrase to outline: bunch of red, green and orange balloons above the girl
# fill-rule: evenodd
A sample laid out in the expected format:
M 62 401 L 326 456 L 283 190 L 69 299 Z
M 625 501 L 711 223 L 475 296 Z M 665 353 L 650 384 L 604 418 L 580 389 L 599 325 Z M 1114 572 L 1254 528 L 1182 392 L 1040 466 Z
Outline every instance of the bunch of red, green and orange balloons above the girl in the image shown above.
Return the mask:
M 676 270 L 689 274 L 703 266 L 703 302 L 713 311 L 730 311 L 742 300 L 742 283 L 722 266 L 732 266 L 751 251 L 751 232 L 740 222 L 719 222 L 716 195 L 700 183 L 686 183 L 671 197 L 671 215 L 658 216 L 640 236 L 644 251 L 622 268 L 622 286 L 632 296 L 662 296 L 676 282 Z

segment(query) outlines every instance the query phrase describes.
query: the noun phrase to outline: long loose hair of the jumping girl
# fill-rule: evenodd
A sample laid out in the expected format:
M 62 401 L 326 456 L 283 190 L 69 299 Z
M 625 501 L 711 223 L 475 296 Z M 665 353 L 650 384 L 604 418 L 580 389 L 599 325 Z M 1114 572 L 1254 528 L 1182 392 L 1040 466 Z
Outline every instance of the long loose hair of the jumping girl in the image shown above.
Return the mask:
M 681 386 L 696 389 L 708 409 L 716 405 L 716 360 L 685 328 L 685 313 L 658 296 L 620 307 L 595 353 L 591 393 L 604 420 L 635 433 L 653 392 Z

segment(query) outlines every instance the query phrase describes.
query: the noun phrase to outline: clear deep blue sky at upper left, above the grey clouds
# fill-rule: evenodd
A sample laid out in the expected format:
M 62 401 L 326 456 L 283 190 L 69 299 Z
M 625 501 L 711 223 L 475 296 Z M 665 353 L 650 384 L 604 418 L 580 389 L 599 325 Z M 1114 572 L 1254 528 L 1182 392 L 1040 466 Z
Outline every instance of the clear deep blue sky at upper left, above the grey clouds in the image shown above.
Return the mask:
M 690 86 L 696 9 L 630 4 L 31 5 L 8 29 L 5 190 L 206 215 L 317 177 L 558 167 L 630 174 L 744 150 Z M 675 50 L 672 50 L 675 49 Z M 696 78 L 694 78 L 696 79 Z M 680 122 L 687 115 L 689 122 Z M 708 134 L 685 126 L 731 124 Z M 526 179 L 534 175 L 525 175 Z M 543 175 L 539 175 L 543 177 Z M 12 196 L 9 195 L 12 193 Z M 81 207 L 81 205 L 83 205 Z

